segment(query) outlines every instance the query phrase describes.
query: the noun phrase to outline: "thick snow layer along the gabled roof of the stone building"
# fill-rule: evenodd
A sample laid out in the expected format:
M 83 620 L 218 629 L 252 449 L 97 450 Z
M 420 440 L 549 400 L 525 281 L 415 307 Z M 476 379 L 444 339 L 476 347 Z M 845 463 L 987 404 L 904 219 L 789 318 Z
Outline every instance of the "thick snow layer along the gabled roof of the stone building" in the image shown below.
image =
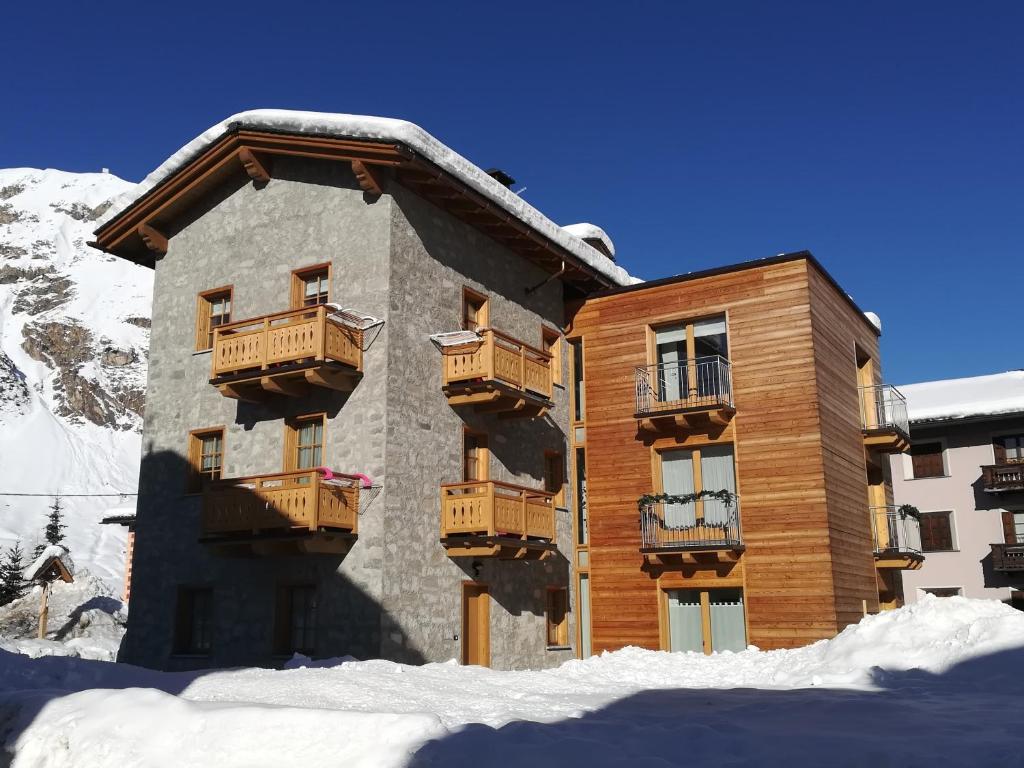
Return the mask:
M 630 275 L 621 266 L 616 266 L 597 249 L 584 243 L 579 236 L 558 226 L 518 195 L 492 178 L 484 170 L 431 136 L 420 126 L 404 120 L 366 115 L 292 110 L 249 110 L 231 115 L 171 155 L 160 167 L 142 179 L 134 189 L 115 201 L 108 215 L 101 220 L 100 226 L 202 155 L 211 144 L 236 127 L 402 143 L 447 171 L 467 186 L 497 203 L 520 221 L 561 246 L 580 261 L 593 267 L 613 283 L 630 286 L 642 282 Z

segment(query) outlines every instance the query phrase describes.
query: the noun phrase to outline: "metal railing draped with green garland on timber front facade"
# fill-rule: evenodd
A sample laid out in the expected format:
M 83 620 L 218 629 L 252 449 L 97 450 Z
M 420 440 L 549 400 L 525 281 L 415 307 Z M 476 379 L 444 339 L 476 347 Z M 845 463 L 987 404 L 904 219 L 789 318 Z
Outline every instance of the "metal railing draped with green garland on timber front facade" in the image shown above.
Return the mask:
M 689 504 L 648 504 L 640 510 L 640 545 L 645 550 L 738 549 L 739 500 L 727 507 L 708 499 Z

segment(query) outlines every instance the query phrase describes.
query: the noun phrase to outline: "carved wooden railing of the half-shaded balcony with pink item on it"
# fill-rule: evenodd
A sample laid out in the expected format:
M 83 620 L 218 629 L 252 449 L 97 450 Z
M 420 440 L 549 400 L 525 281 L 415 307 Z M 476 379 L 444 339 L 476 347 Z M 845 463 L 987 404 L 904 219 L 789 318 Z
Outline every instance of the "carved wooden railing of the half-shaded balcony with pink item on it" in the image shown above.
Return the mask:
M 355 534 L 359 478 L 317 470 L 215 480 L 203 490 L 204 537 L 273 532 Z

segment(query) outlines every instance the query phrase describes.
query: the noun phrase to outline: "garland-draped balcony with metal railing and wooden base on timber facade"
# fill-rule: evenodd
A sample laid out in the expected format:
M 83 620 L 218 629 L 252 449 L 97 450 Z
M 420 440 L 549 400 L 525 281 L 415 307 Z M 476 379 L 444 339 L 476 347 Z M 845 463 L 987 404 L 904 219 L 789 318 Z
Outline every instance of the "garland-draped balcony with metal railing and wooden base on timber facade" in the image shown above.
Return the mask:
M 640 510 L 640 552 L 648 562 L 736 560 L 743 551 L 739 500 L 647 504 Z

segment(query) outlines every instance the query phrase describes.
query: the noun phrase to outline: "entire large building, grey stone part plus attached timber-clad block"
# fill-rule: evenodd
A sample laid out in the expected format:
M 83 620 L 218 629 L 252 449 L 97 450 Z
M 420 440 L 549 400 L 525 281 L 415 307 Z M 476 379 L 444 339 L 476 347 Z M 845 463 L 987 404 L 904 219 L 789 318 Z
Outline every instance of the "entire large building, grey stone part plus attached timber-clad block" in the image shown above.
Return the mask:
M 548 667 L 656 647 L 658 589 L 697 585 L 712 556 L 700 609 L 731 590 L 712 597 L 745 606 L 733 645 L 877 609 L 877 565 L 907 563 L 885 536 L 872 555 L 865 503 L 870 480 L 891 504 L 878 457 L 906 444 L 878 329 L 806 253 L 631 291 L 599 227 L 559 227 L 511 183 L 409 123 L 259 111 L 112 209 L 96 246 L 156 270 L 124 660 Z M 693 383 L 722 323 L 733 378 Z M 648 359 L 676 368 L 638 414 Z M 696 402 L 672 400 L 691 384 Z M 641 516 L 660 485 L 624 476 L 673 441 L 708 444 L 726 485 L 732 445 L 728 546 L 641 546 L 641 519 L 691 515 Z M 646 625 L 616 632 L 631 612 Z

